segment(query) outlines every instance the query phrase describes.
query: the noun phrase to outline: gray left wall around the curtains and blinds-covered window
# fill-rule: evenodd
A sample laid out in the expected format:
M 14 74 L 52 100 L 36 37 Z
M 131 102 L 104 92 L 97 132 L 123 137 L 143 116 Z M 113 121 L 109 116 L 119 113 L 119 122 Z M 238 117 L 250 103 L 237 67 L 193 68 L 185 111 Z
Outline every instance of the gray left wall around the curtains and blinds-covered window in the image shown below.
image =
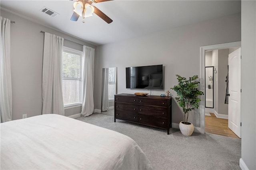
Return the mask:
M 1 16 L 16 22 L 11 24 L 12 119 L 22 119 L 22 114 L 27 114 L 28 117 L 41 115 L 44 34 L 40 31 L 90 47 L 95 46 L 4 10 L 1 10 Z M 82 50 L 82 45 L 66 41 L 64 45 Z M 80 111 L 79 108 L 68 109 L 65 115 L 80 112 L 81 107 Z

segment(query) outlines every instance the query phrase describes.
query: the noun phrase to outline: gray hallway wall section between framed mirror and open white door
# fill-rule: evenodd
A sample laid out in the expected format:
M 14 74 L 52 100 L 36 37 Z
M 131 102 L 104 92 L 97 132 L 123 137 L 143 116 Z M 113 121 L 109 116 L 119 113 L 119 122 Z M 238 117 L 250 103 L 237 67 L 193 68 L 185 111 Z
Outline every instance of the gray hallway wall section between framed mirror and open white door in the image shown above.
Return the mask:
M 229 49 L 218 50 L 218 114 L 228 115 L 228 105 L 225 104 L 226 75 L 228 73 Z

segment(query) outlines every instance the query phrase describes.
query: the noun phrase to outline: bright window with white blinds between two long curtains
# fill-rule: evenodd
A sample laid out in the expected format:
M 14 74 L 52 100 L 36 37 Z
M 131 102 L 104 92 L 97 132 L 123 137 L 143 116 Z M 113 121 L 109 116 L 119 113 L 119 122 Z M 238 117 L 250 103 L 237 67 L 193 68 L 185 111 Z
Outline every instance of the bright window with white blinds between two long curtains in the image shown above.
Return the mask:
M 82 51 L 63 49 L 62 95 L 64 106 L 82 103 Z

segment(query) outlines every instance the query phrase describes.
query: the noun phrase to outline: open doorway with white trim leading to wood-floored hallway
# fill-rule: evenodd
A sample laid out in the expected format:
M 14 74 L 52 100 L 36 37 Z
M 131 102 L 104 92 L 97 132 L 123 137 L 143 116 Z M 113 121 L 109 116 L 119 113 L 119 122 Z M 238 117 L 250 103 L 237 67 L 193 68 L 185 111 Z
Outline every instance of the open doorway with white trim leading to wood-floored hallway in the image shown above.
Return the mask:
M 233 120 L 233 118 L 231 119 L 228 118 L 229 115 L 231 115 L 231 113 L 228 113 L 228 108 L 230 107 L 228 103 L 224 104 L 225 97 L 226 95 L 228 95 L 226 94 L 227 84 L 225 80 L 226 80 L 226 77 L 229 77 L 227 75 L 228 54 L 232 53 L 232 50 L 234 51 L 238 49 L 240 46 L 241 46 L 241 42 L 234 42 L 234 43 L 225 43 L 225 44 L 209 45 L 209 46 L 201 47 L 200 88 L 202 91 L 204 91 L 204 94 L 205 94 L 204 96 L 201 96 L 201 106 L 200 106 L 202 133 L 211 132 L 211 133 L 220 134 L 223 136 L 230 136 L 230 137 L 235 136 L 234 133 L 227 127 L 227 125 L 229 125 L 230 127 L 230 124 L 231 124 L 230 122 L 228 122 L 228 120 Z M 209 53 L 214 54 L 213 56 L 214 59 L 211 60 L 213 62 L 209 62 Z M 220 54 L 219 57 L 225 56 L 226 58 L 220 58 L 220 61 L 218 62 L 218 53 Z M 223 65 L 225 65 L 225 68 L 223 68 Z M 218 79 L 220 79 L 220 81 L 218 81 Z M 228 80 L 226 81 L 228 82 Z M 219 85 L 219 88 L 218 88 L 218 85 Z M 214 105 L 212 105 L 212 103 L 214 103 Z M 240 119 L 240 115 L 239 115 L 239 119 Z M 214 124 L 216 129 L 209 129 L 209 126 L 212 126 Z M 239 120 L 239 125 L 240 125 L 240 120 Z M 240 129 L 240 126 L 239 126 L 239 129 Z M 226 132 L 227 134 L 220 133 L 221 130 L 222 132 Z

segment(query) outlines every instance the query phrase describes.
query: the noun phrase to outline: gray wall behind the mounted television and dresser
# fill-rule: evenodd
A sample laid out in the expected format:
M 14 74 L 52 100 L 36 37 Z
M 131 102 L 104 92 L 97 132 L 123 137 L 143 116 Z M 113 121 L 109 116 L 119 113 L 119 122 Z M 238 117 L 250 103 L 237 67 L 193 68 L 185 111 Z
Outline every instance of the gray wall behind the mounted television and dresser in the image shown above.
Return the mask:
M 117 67 L 117 93 L 146 92 L 126 89 L 125 68 L 163 64 L 164 90 L 152 91 L 152 95 L 166 94 L 176 85 L 176 74 L 184 77 L 200 75 L 200 46 L 241 41 L 241 14 L 208 20 L 198 24 L 156 32 L 143 37 L 98 46 L 96 49 L 94 105 L 100 109 L 102 68 Z M 171 91 L 171 90 L 170 90 Z M 171 91 L 175 97 L 174 91 Z M 200 127 L 197 112 L 193 123 Z M 183 119 L 181 109 L 173 100 L 172 122 Z

